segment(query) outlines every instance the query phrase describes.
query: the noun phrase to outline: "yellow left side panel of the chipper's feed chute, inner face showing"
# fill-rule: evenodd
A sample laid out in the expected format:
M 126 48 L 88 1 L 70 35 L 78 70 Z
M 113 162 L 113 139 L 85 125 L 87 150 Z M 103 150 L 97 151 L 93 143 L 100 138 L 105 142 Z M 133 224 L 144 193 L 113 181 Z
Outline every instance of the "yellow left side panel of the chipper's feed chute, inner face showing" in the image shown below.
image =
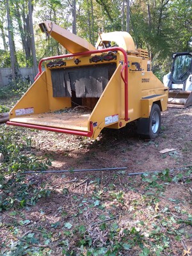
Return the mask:
M 47 99 L 46 73 L 43 72 L 33 83 L 29 90 L 15 104 L 10 111 L 10 120 L 17 116 L 27 115 L 27 113 L 44 113 L 49 111 Z M 23 113 L 23 115 L 22 115 Z

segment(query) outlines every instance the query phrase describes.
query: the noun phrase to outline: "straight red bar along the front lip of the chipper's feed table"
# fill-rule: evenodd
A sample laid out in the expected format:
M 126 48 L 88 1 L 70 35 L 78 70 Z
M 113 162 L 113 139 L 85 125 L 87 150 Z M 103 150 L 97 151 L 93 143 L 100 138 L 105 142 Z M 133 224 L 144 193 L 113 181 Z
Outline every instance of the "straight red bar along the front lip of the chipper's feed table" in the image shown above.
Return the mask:
M 31 129 L 51 131 L 51 132 L 62 132 L 62 133 L 68 133 L 68 134 L 85 136 L 85 137 L 92 137 L 92 135 L 93 135 L 93 122 L 90 122 L 90 131 L 77 131 L 77 130 L 70 130 L 70 129 L 61 129 L 61 128 L 54 128 L 54 127 L 49 127 L 49 126 L 42 126 L 42 125 L 22 124 L 22 123 L 17 123 L 17 122 L 12 122 L 12 121 L 8 121 L 8 122 L 6 122 L 6 124 L 20 126 L 20 127 L 27 127 L 27 128 L 31 128 Z

